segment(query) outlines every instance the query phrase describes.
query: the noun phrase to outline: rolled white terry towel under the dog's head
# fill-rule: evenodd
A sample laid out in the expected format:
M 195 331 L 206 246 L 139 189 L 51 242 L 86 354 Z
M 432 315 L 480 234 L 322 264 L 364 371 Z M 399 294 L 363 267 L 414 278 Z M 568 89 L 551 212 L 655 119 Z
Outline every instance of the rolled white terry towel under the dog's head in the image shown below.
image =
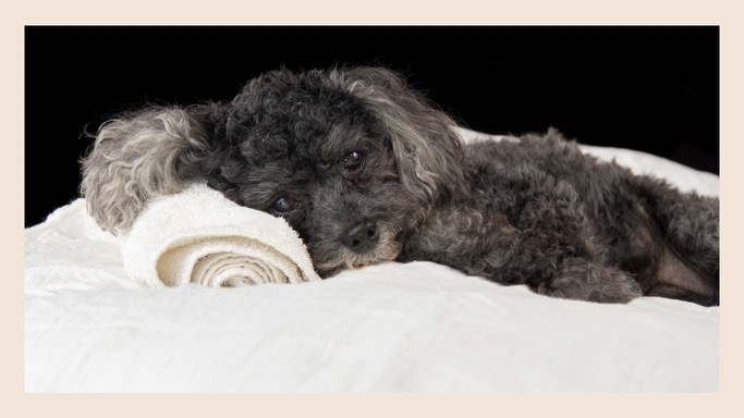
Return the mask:
M 281 218 L 205 184 L 148 202 L 121 236 L 126 273 L 150 286 L 239 286 L 318 281 L 307 248 Z

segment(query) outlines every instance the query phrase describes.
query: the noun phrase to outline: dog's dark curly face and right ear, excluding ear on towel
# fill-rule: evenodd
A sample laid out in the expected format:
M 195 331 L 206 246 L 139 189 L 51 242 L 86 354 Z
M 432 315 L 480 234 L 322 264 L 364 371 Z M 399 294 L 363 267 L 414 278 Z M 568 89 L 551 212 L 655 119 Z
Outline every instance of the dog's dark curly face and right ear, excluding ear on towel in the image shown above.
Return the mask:
M 388 70 L 279 70 L 188 118 L 209 185 L 283 217 L 321 275 L 394 259 L 463 187 L 455 124 Z

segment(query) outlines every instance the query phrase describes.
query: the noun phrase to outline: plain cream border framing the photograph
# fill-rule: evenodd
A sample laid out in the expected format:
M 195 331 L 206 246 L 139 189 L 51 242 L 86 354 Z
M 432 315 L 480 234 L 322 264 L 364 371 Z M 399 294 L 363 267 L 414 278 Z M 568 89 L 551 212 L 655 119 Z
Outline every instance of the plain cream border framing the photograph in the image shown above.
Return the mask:
M 742 10 L 734 1 L 371 0 L 34 1 L 2 5 L 4 192 L 2 394 L 14 417 L 480 417 L 735 416 L 742 410 L 742 257 L 736 247 L 744 165 Z M 161 4 L 163 3 L 163 4 Z M 194 7 L 197 4 L 197 7 Z M 489 5 L 484 5 L 489 4 Z M 24 395 L 23 26 L 26 24 L 716 24 L 721 26 L 721 391 L 709 395 Z M 33 193 L 44 193 L 34 190 Z M 20 204 L 20 205 L 19 205 Z M 684 347 L 681 347 L 684 349 Z M 9 402 L 10 401 L 10 402 Z M 5 413 L 7 414 L 7 413 Z M 5 415 L 3 414 L 3 415 Z

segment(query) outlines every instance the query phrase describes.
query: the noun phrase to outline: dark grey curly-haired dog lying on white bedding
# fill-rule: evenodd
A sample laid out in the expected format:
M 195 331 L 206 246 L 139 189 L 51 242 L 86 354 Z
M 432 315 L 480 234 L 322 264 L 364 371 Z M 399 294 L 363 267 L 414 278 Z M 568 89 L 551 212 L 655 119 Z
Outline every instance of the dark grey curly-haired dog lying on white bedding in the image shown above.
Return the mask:
M 426 260 L 554 297 L 719 304 L 718 198 L 601 162 L 552 128 L 466 146 L 456 126 L 387 69 L 280 69 L 231 101 L 105 123 L 81 192 L 117 234 L 153 197 L 206 181 L 284 218 L 322 278 Z

